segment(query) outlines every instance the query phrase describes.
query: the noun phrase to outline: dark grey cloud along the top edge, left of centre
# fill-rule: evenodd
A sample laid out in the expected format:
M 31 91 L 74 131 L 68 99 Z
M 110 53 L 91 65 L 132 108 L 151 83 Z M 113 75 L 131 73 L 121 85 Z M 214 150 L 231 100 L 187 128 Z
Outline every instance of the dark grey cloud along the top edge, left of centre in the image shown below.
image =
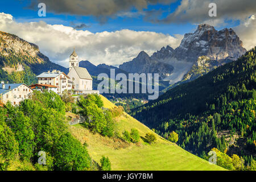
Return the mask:
M 38 3 L 43 2 L 47 10 L 53 13 L 92 15 L 104 22 L 110 16 L 129 12 L 133 8 L 142 11 L 148 5 L 168 5 L 175 1 L 177 0 L 32 0 L 29 8 L 37 9 Z

